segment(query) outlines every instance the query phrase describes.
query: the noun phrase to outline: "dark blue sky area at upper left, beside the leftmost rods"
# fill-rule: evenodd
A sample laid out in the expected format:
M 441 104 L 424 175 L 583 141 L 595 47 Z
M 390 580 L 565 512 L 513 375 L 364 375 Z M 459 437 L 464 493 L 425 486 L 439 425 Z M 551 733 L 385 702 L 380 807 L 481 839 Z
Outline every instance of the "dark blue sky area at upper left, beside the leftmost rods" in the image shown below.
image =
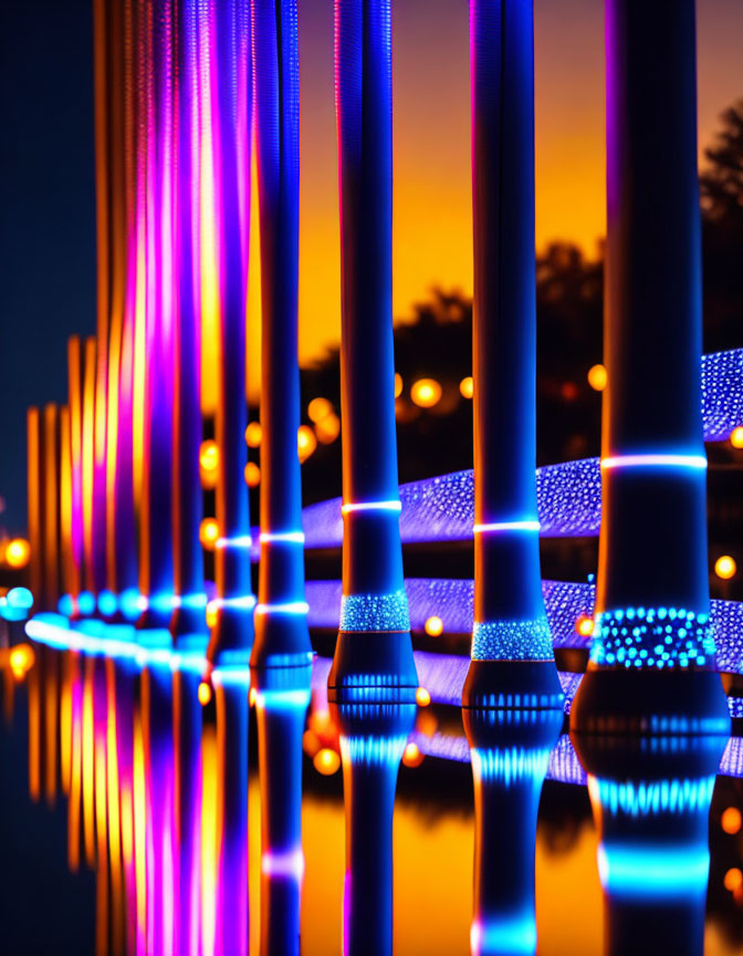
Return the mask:
M 95 330 L 91 0 L 0 3 L 0 527 L 25 527 L 25 413 Z

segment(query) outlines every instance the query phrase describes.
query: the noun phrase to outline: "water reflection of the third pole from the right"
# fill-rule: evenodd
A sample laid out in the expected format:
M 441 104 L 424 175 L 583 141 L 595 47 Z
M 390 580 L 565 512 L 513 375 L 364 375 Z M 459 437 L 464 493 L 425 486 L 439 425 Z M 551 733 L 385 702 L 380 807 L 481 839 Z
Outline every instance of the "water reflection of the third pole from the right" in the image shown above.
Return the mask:
M 393 952 L 393 813 L 415 704 L 332 705 L 343 758 L 343 954 Z

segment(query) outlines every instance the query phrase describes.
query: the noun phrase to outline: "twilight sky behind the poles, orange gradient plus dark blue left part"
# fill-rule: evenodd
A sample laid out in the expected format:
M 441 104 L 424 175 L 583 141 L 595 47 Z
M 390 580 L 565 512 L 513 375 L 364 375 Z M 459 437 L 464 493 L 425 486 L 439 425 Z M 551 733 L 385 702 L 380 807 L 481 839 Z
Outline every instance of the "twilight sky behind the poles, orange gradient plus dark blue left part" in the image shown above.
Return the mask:
M 339 334 L 333 3 L 299 0 L 300 347 Z M 536 239 L 593 254 L 605 229 L 601 0 L 535 0 Z M 698 0 L 699 138 L 743 96 L 743 3 Z M 25 408 L 65 397 L 65 343 L 95 318 L 91 0 L 0 13 L 0 528 L 22 530 Z M 467 0 L 394 0 L 394 314 L 435 284 L 471 291 Z M 255 217 L 254 217 L 255 218 Z M 251 243 L 257 251 L 258 243 Z M 257 258 L 253 257 L 253 267 Z M 259 288 L 250 292 L 250 389 Z

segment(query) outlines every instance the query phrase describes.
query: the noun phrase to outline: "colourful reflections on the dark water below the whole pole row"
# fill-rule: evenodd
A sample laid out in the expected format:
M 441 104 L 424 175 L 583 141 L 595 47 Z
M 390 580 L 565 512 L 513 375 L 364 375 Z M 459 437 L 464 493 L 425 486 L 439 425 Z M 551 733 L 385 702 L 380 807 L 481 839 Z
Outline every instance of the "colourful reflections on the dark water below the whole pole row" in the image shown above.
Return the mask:
M 308 668 L 243 674 L 207 702 L 187 668 L 12 640 L 2 952 L 338 954 L 344 927 L 347 953 L 532 953 L 538 936 L 541 956 L 594 956 L 604 929 L 610 954 L 740 952 L 743 781 L 712 792 L 724 741 L 578 744 L 586 789 L 544 716 L 328 707 L 322 661 L 312 689 Z

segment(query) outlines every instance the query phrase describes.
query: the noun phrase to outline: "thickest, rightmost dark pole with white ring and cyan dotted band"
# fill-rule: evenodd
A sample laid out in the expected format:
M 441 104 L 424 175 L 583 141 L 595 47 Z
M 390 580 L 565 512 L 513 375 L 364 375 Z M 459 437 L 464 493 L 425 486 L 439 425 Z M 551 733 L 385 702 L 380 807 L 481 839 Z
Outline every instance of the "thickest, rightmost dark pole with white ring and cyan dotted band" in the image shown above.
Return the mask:
M 702 713 L 725 719 L 710 672 L 693 0 L 606 0 L 606 69 L 603 520 L 573 726 L 670 710 L 693 730 Z

